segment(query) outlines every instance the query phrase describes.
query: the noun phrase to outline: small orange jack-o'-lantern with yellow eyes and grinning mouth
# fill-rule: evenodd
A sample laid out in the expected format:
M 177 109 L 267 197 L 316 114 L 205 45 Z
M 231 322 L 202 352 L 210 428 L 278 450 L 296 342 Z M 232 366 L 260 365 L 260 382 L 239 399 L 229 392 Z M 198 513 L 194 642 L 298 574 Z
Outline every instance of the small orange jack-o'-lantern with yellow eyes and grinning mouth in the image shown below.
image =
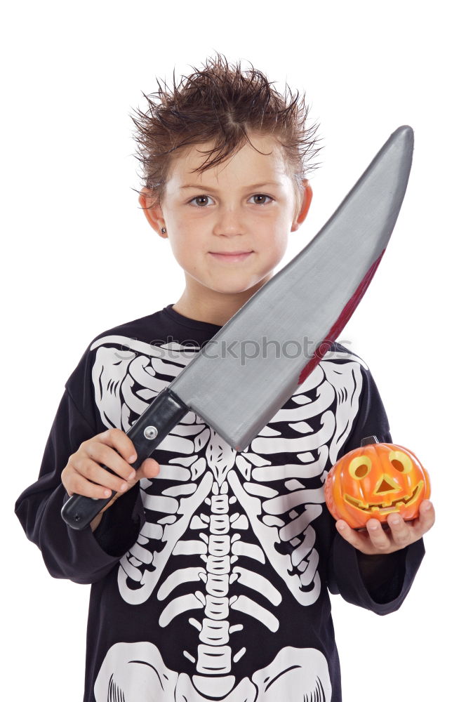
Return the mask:
M 415 519 L 429 497 L 429 475 L 414 453 L 397 444 L 379 444 L 376 437 L 363 439 L 359 449 L 342 456 L 325 484 L 331 514 L 353 529 L 371 517 L 387 522 L 392 512 Z

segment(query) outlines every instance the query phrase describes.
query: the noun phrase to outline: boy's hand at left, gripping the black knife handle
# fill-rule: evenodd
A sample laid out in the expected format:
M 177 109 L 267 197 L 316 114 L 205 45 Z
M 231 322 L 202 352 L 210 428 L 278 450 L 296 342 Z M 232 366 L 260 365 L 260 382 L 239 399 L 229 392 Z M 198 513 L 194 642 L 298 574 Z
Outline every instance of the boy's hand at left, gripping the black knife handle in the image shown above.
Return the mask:
M 86 497 L 106 498 L 116 491 L 105 512 L 119 496 L 126 493 L 141 478 L 159 475 L 160 465 L 154 458 L 146 458 L 138 470 L 131 463 L 137 458 L 134 444 L 121 429 L 108 429 L 83 442 L 76 453 L 69 456 L 62 470 L 62 483 L 69 496 L 74 493 Z M 113 475 L 102 465 L 111 468 Z

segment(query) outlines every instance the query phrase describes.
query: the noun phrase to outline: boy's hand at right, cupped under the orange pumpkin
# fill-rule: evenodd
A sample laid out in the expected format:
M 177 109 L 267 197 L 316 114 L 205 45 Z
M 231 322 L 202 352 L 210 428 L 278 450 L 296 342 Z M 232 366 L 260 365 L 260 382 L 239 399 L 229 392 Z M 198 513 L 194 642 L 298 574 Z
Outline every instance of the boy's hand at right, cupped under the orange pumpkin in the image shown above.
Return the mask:
M 430 500 L 423 500 L 419 505 L 419 517 L 405 522 L 397 512 L 388 515 L 389 529 L 383 529 L 378 519 L 369 519 L 367 531 L 351 529 L 343 520 L 338 519 L 336 527 L 339 534 L 362 553 L 380 555 L 392 553 L 418 541 L 435 522 L 434 505 Z

